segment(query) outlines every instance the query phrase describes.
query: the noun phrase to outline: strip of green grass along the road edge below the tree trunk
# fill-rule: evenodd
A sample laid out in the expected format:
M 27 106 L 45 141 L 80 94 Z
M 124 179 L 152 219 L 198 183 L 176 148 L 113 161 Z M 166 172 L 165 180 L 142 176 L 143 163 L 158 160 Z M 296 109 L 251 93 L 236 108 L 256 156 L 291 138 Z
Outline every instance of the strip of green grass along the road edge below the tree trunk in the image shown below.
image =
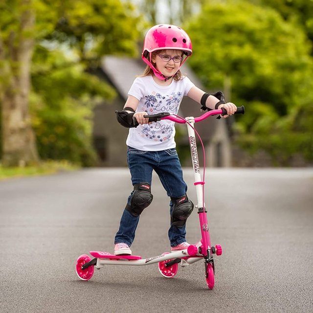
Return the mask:
M 58 172 L 77 170 L 79 166 L 68 161 L 44 161 L 37 166 L 3 167 L 0 164 L 0 180 L 18 177 L 50 175 Z

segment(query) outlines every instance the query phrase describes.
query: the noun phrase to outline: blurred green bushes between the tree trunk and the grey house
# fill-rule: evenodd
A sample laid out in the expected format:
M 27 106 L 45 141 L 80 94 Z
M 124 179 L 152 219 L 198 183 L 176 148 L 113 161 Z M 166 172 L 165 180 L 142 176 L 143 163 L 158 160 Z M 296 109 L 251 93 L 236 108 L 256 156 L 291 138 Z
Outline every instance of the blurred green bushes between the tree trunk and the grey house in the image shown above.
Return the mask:
M 60 51 L 40 46 L 33 58 L 32 86 L 33 128 L 40 156 L 93 165 L 93 104 L 112 98 L 115 92 Z

